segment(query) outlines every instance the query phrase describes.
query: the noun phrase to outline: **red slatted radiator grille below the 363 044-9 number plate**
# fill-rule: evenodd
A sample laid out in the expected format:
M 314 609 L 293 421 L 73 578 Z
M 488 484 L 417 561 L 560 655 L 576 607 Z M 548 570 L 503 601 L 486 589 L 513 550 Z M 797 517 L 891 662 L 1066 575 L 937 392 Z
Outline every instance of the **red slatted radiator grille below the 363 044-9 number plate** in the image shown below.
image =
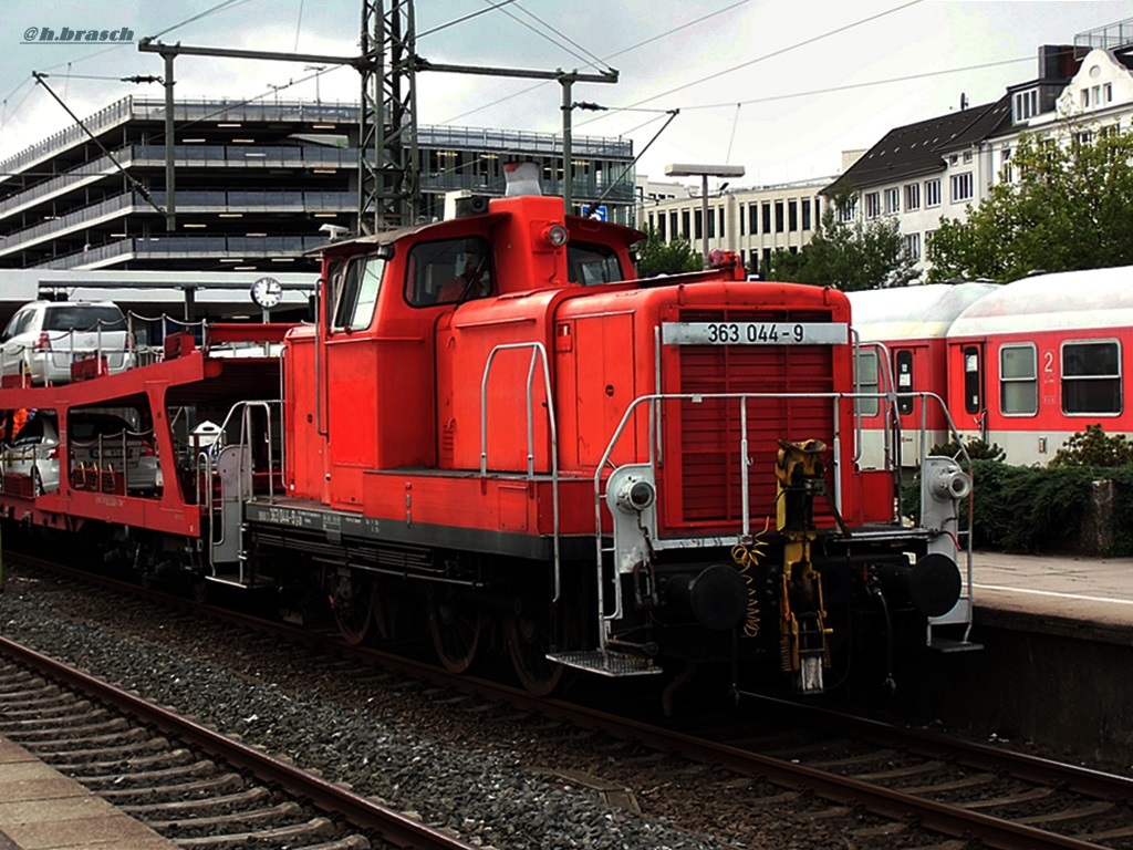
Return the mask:
M 706 321 L 687 316 L 682 320 Z M 730 317 L 730 321 L 750 320 Z M 795 317 L 795 321 L 813 318 Z M 679 374 L 665 376 L 666 392 L 786 394 L 827 393 L 834 389 L 828 346 L 681 346 L 676 363 Z M 749 510 L 753 528 L 763 528 L 764 517 L 770 517 L 774 525 L 778 441 L 818 439 L 832 445 L 833 411 L 834 403 L 827 398 L 748 402 Z M 666 530 L 736 530 L 743 516 L 740 402 L 722 399 L 671 402 L 665 436 L 667 462 L 662 486 L 666 496 Z M 828 512 L 821 502 L 815 508 L 816 515 Z

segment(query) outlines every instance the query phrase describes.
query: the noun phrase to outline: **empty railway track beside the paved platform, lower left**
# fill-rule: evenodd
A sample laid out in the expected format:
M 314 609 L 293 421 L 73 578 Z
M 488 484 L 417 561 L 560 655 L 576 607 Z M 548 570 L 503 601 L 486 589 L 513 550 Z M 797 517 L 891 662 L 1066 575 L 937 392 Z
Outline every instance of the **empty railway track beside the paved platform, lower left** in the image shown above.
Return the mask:
M 0 654 L 0 733 L 181 847 L 470 850 L 11 640 Z

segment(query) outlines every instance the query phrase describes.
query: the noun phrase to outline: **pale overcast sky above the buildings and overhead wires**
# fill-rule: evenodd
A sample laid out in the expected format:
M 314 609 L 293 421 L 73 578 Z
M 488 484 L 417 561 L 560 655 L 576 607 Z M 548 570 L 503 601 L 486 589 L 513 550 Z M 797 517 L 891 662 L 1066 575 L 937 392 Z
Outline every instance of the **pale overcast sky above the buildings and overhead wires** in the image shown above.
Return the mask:
M 389 0 L 387 0 L 389 2 Z M 491 7 L 500 8 L 492 9 Z M 742 165 L 733 185 L 834 175 L 841 152 L 894 126 L 997 100 L 1033 79 L 1041 44 L 1133 17 L 1113 0 L 417 0 L 417 51 L 433 62 L 538 70 L 616 68 L 616 84 L 576 84 L 576 135 L 632 138 L 639 173 L 667 163 Z M 361 0 L 0 0 L 0 156 L 71 124 L 33 71 L 86 117 L 159 85 L 136 43 L 43 43 L 44 28 L 130 31 L 135 42 L 326 56 L 358 52 Z M 34 32 L 33 32 L 34 28 Z M 32 41 L 33 43 L 24 43 Z M 356 102 L 357 74 L 296 62 L 184 57 L 177 96 Z M 94 78 L 91 78 L 94 77 Z M 291 83 L 291 85 L 288 85 Z M 273 88 L 283 86 L 282 88 Z M 557 133 L 557 83 L 441 73 L 417 78 L 420 124 Z M 668 116 L 680 113 L 662 129 Z M 689 178 L 687 178 L 689 179 Z

